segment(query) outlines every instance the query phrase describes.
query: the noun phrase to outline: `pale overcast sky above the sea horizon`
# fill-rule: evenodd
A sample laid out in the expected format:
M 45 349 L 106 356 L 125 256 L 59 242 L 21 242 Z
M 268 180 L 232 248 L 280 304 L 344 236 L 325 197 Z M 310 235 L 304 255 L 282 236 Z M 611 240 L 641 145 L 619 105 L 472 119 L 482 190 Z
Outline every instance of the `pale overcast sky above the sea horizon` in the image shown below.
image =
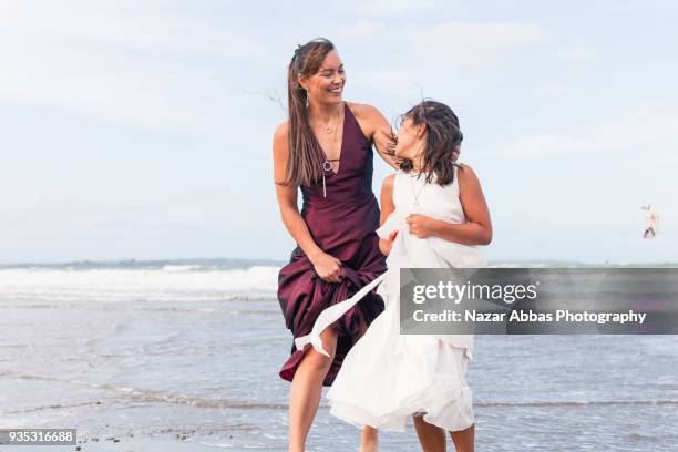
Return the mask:
M 677 19 L 671 1 L 3 1 L 0 263 L 287 259 L 276 97 L 319 35 L 346 100 L 458 113 L 490 259 L 676 261 Z

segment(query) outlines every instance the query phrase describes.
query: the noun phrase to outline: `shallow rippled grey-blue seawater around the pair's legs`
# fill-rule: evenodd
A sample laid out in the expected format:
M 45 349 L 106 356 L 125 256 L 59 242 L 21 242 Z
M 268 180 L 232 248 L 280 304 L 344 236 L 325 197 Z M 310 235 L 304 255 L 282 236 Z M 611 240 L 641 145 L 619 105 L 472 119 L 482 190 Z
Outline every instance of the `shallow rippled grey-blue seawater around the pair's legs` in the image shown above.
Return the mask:
M 124 273 L 106 282 L 122 295 L 101 297 L 90 276 L 56 294 L 50 278 L 0 271 L 0 425 L 285 450 L 277 371 L 291 337 L 275 300 L 224 295 L 218 275 L 151 289 Z M 476 336 L 474 357 L 479 451 L 676 450 L 676 336 Z M 357 450 L 358 436 L 323 401 L 308 450 Z M 411 424 L 381 444 L 418 450 Z

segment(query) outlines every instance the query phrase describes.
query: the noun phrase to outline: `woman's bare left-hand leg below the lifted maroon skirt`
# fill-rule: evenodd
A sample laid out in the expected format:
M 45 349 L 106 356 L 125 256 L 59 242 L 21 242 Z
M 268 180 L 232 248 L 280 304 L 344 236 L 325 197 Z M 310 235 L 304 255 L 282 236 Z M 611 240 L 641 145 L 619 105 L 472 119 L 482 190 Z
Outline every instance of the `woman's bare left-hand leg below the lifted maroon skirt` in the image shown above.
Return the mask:
M 289 391 L 289 445 L 288 452 L 304 452 L 306 436 L 314 422 L 320 397 L 322 381 L 335 359 L 337 330 L 326 329 L 321 335 L 322 347 L 330 358 L 318 353 L 312 347 L 304 355 Z

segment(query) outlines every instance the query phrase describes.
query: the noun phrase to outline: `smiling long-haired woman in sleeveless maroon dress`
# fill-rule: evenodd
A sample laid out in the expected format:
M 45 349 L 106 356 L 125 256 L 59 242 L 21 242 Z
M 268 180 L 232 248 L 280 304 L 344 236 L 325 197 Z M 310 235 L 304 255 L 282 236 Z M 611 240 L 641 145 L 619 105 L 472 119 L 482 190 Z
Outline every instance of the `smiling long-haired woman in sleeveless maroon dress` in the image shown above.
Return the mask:
M 388 153 L 391 127 L 374 107 L 345 102 L 343 64 L 333 44 L 300 45 L 288 69 L 288 120 L 274 135 L 274 178 L 282 223 L 297 243 L 280 269 L 278 299 L 295 337 L 310 332 L 318 315 L 386 271 L 379 250 L 379 205 L 372 193 L 372 144 Z M 304 206 L 297 208 L 297 187 Z M 289 451 L 304 451 L 320 402 L 352 343 L 383 310 L 371 292 L 322 335 L 326 357 L 312 347 L 292 352 L 280 370 L 291 381 Z M 376 450 L 377 432 L 362 432 L 361 450 Z

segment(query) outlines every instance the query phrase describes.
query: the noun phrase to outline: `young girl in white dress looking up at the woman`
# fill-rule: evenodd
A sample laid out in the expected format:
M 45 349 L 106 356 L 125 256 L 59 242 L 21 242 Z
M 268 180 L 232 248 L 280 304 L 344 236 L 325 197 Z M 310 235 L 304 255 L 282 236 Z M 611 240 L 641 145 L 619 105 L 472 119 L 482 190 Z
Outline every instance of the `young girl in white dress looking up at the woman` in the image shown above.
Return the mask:
M 483 267 L 475 245 L 492 239 L 490 214 L 477 177 L 456 165 L 462 142 L 449 106 L 423 101 L 403 115 L 396 137 L 401 170 L 383 183 L 380 249 L 389 270 L 350 299 L 326 309 L 312 332 L 298 338 L 323 352 L 319 333 L 372 288 L 386 310 L 347 355 L 328 392 L 330 413 L 357 427 L 404 430 L 413 415 L 424 451 L 445 451 L 445 430 L 456 451 L 473 451 L 474 415 L 466 366 L 472 335 L 400 335 L 400 268 Z

